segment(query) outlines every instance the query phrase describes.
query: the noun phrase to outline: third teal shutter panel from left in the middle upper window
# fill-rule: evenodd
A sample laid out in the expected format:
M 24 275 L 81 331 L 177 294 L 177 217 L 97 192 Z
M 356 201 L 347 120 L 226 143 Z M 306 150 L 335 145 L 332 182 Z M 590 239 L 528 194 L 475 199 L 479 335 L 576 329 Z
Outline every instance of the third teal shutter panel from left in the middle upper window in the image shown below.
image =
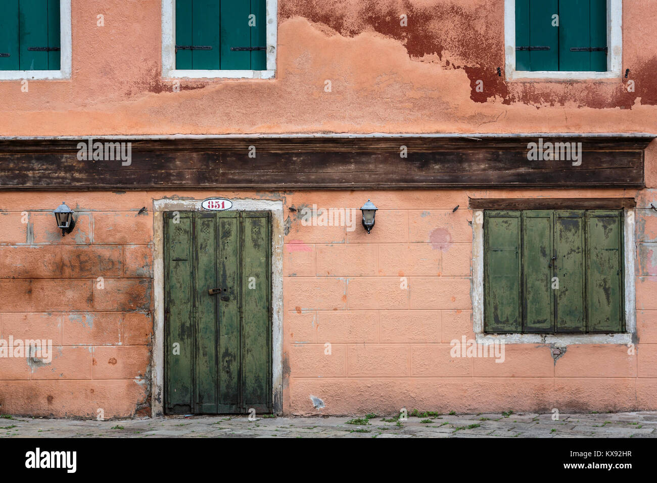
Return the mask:
M 221 68 L 250 70 L 250 51 L 231 51 L 234 47 L 251 47 L 248 26 L 251 3 L 248 0 L 221 0 Z M 256 22 L 257 22 L 256 18 Z

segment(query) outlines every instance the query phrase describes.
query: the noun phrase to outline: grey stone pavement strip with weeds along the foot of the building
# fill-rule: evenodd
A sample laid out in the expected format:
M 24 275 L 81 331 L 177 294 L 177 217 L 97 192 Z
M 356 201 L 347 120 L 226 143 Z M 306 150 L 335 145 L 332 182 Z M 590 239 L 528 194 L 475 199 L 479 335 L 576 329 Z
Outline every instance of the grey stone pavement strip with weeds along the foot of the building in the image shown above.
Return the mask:
M 79 421 L 2 416 L 3 438 L 654 438 L 657 411 L 553 415 L 503 413 L 437 415 L 406 421 L 355 417 L 193 416 Z

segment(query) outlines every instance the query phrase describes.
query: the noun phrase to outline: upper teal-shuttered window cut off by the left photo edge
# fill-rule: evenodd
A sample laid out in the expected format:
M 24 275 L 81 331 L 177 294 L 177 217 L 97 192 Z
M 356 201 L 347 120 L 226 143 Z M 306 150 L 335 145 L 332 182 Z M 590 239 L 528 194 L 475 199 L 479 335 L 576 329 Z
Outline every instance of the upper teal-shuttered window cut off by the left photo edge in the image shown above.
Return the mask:
M 0 80 L 70 76 L 70 0 L 5 0 Z

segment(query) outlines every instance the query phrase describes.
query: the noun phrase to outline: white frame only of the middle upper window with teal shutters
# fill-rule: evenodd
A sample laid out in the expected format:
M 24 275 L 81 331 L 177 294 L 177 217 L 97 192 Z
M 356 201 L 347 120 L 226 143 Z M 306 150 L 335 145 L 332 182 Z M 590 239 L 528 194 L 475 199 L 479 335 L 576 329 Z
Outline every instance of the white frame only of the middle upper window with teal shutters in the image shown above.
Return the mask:
M 266 70 L 201 70 L 175 68 L 175 0 L 162 0 L 162 77 L 169 79 L 247 78 L 271 79 L 276 75 L 278 0 L 265 0 L 267 32 Z M 217 26 L 217 28 L 219 28 Z

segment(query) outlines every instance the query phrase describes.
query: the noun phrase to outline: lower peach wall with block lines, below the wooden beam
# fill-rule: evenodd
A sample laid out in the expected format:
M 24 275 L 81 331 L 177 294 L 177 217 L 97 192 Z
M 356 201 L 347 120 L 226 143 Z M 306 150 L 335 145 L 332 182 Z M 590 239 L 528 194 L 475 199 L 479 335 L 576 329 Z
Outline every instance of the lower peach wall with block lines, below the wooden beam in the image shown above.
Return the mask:
M 55 346 L 37 367 L 0 358 L 1 412 L 150 414 L 152 200 L 212 195 L 283 200 L 284 413 L 657 408 L 654 191 L 371 191 L 371 235 L 302 223 L 304 206 L 358 208 L 359 191 L 149 191 L 0 193 L 0 338 Z M 451 340 L 473 336 L 468 196 L 528 195 L 637 196 L 635 354 L 574 345 L 555 361 L 547 345 L 507 344 L 504 363 L 450 357 Z M 64 238 L 50 213 L 62 200 L 78 218 Z

